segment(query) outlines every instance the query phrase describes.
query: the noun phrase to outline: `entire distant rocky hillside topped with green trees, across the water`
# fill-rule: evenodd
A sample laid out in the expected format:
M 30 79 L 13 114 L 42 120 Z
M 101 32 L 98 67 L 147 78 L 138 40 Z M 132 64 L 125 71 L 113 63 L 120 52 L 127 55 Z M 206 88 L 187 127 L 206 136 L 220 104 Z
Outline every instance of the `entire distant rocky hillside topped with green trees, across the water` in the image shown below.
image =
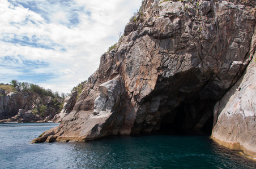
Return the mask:
M 68 94 L 12 80 L 0 84 L 0 122 L 47 122 L 61 112 Z

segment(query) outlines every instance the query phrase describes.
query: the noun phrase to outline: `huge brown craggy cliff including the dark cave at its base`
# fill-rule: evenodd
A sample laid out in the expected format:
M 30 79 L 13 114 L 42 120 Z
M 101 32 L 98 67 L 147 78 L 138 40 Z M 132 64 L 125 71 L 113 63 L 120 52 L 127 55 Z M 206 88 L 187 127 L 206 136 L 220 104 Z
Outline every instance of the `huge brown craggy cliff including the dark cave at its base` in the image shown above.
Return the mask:
M 72 111 L 34 142 L 211 131 L 215 103 L 254 54 L 255 1 L 148 0 L 133 21 Z

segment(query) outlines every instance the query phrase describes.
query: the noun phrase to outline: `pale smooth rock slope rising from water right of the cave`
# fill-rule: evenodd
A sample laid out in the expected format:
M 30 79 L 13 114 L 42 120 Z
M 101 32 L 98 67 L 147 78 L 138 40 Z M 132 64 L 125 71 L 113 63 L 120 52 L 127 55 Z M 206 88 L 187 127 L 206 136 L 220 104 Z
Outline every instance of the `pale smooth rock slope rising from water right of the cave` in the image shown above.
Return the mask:
M 255 56 L 254 56 L 255 57 Z M 231 149 L 256 157 L 256 64 L 251 61 L 244 76 L 215 106 L 217 123 L 212 137 Z

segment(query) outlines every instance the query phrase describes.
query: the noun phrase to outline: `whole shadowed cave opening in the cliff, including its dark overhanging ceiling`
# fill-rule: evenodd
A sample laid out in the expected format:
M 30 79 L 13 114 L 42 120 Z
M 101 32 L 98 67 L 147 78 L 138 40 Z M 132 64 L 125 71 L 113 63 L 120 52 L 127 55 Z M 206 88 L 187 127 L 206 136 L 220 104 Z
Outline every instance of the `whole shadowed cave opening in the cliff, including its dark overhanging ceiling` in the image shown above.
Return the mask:
M 144 100 L 148 117 L 143 124 L 135 123 L 135 128 L 142 125 L 140 133 L 211 135 L 214 106 L 223 92 L 209 84 L 211 76 L 212 72 L 197 68 L 170 78 L 159 75 L 155 90 Z

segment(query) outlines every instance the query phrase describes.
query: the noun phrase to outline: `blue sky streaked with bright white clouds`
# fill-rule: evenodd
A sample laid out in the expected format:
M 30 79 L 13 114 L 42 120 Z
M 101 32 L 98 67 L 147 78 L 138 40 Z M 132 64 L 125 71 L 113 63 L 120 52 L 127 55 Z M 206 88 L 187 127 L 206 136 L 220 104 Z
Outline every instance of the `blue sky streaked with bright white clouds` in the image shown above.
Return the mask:
M 141 0 L 1 0 L 0 83 L 70 93 L 95 72 Z

